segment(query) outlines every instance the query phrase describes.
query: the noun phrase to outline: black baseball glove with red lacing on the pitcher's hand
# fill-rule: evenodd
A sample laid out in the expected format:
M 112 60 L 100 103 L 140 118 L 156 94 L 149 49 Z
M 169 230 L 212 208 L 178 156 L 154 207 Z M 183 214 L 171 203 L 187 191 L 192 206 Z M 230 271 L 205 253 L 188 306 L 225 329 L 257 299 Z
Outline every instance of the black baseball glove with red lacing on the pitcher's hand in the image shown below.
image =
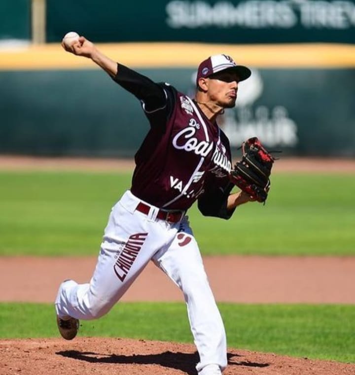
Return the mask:
M 260 143 L 252 137 L 242 143 L 242 160 L 230 172 L 230 180 L 251 199 L 265 204 L 270 190 L 270 174 L 276 160 Z

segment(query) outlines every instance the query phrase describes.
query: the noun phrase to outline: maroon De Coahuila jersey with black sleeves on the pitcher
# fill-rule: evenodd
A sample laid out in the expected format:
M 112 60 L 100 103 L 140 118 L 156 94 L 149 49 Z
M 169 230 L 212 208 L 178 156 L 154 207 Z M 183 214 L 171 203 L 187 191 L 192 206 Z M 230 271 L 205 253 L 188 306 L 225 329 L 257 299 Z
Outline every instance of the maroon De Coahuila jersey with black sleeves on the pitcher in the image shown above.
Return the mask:
M 150 122 L 150 130 L 135 155 L 132 193 L 165 209 L 187 210 L 199 199 L 202 213 L 230 217 L 233 211 L 225 211 L 232 186 L 227 136 L 191 98 L 168 84 L 156 84 L 142 77 L 146 92 L 159 88 L 159 100 L 144 94 L 142 87 L 139 92 L 132 89 L 131 81 L 125 86 L 115 79 L 141 99 Z

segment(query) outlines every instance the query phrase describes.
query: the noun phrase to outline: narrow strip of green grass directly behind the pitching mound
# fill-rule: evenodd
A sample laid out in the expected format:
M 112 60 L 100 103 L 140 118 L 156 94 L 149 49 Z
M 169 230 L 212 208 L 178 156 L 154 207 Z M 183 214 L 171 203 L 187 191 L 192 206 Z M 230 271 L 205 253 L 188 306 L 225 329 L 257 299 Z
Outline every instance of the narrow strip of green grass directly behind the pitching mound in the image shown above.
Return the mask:
M 1 338 L 59 336 L 53 306 L 0 306 Z M 355 363 L 353 306 L 219 304 L 219 308 L 229 347 Z M 186 308 L 179 303 L 118 304 L 101 319 L 82 321 L 80 336 L 192 342 Z

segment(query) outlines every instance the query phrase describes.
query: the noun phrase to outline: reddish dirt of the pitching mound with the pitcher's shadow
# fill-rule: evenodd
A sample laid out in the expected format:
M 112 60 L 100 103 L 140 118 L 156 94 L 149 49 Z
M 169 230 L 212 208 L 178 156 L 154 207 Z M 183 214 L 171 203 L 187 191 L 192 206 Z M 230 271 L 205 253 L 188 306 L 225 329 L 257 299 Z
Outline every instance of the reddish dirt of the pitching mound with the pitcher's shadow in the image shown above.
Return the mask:
M 162 341 L 77 338 L 0 341 L 1 375 L 195 375 L 195 347 Z M 354 375 L 355 365 L 229 349 L 224 375 Z

